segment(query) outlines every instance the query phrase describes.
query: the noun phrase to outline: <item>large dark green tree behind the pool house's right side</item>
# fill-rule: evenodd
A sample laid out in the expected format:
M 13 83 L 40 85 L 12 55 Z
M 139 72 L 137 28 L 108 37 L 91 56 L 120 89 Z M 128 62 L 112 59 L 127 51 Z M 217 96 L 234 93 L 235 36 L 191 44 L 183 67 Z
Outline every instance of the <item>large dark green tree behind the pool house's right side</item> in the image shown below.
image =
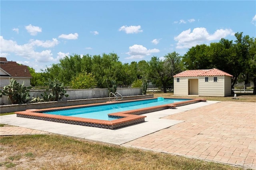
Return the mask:
M 248 81 L 251 75 L 249 49 L 253 40 L 242 34 L 235 34 L 235 43 L 222 38 L 210 46 L 202 44 L 190 48 L 182 59 L 186 69 L 217 68 L 226 71 L 234 76 L 232 88 L 239 76 Z

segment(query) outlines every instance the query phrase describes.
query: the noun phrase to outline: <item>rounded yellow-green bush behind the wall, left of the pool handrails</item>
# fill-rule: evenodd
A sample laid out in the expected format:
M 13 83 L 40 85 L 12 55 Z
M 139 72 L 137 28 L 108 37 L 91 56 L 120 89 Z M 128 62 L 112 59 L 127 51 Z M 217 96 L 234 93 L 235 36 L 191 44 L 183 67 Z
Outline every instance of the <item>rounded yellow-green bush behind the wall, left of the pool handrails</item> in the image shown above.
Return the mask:
M 74 77 L 70 83 L 73 89 L 92 89 L 97 82 L 92 73 L 82 72 Z

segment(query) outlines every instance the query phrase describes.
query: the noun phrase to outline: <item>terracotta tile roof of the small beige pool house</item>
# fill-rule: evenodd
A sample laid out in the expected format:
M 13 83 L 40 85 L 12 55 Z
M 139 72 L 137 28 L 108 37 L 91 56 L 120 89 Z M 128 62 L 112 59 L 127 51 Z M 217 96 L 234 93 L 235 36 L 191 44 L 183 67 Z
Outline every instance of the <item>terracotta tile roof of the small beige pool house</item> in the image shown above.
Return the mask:
M 204 69 L 204 70 L 186 70 L 174 75 L 173 77 L 197 77 L 197 76 L 217 76 L 217 75 L 227 75 L 227 76 L 233 77 L 233 75 L 215 68 Z

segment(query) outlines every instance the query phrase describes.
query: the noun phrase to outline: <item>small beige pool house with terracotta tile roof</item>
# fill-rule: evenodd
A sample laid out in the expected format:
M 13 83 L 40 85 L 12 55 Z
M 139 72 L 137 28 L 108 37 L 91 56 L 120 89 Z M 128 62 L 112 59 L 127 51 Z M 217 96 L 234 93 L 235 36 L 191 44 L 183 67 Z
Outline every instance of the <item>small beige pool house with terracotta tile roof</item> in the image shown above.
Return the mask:
M 174 77 L 174 95 L 230 96 L 231 77 L 219 69 L 186 70 Z

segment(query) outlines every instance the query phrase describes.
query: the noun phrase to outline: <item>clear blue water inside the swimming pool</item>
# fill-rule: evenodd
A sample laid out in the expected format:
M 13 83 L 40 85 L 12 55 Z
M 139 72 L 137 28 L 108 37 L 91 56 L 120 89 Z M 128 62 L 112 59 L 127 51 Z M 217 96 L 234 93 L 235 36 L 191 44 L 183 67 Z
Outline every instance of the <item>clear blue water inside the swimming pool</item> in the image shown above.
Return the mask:
M 115 118 L 108 117 L 108 114 L 110 113 L 130 111 L 134 109 L 142 109 L 146 107 L 160 106 L 188 100 L 189 99 L 164 99 L 162 97 L 158 97 L 158 99 L 80 107 L 76 109 L 62 109 L 57 111 L 43 111 L 42 113 L 111 121 L 115 120 Z

